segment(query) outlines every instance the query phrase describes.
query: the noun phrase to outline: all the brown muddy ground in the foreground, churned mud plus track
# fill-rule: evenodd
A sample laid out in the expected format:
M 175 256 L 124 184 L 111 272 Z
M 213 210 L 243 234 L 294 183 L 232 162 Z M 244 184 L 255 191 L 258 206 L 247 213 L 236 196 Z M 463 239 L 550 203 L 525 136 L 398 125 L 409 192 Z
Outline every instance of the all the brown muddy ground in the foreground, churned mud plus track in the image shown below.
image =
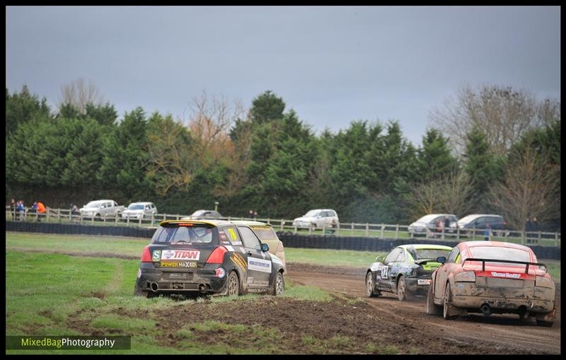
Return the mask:
M 181 349 L 184 339 L 178 330 L 184 327 L 192 331 L 192 342 L 233 343 L 263 353 L 387 354 L 393 349 L 400 354 L 560 354 L 560 305 L 551 328 L 521 324 L 516 315 L 444 320 L 424 313 L 424 297 L 410 302 L 400 302 L 393 294 L 366 298 L 364 269 L 289 263 L 288 270 L 287 277 L 296 283 L 333 291 L 333 301 L 262 296 L 254 301 L 180 304 L 151 313 L 119 308 L 117 315 L 156 320 L 158 343 Z M 206 320 L 246 325 L 247 330 L 191 327 Z M 88 320 L 79 320 L 79 314 L 71 315 L 67 325 L 100 335 Z M 261 331 L 270 329 L 276 332 L 267 339 Z

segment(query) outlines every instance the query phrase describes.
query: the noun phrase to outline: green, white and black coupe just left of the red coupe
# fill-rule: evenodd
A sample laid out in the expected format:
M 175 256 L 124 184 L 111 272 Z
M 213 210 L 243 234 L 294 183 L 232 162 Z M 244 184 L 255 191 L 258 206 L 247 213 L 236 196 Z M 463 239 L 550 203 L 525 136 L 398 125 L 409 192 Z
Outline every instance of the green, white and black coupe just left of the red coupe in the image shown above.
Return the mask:
M 441 265 L 437 257 L 451 250 L 444 245 L 400 245 L 385 259 L 376 257 L 366 270 L 366 295 L 380 296 L 385 291 L 397 294 L 403 301 L 413 294 L 427 294 L 432 272 Z

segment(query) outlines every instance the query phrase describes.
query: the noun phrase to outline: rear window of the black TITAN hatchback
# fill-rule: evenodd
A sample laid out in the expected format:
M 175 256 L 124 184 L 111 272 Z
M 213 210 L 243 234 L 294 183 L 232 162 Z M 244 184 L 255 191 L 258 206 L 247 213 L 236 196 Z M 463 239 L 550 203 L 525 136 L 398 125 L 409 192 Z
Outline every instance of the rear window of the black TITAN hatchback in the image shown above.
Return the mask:
M 159 226 L 151 238 L 155 244 L 218 244 L 218 228 L 207 224 L 168 224 Z

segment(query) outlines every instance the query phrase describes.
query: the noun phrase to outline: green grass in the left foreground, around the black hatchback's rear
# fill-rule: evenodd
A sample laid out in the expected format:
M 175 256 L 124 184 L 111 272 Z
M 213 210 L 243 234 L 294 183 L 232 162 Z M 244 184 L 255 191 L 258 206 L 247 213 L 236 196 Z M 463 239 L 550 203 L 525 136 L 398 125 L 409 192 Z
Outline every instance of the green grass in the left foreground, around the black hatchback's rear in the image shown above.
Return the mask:
M 175 301 L 172 298 L 133 296 L 139 260 L 106 257 L 70 256 L 42 252 L 6 252 L 6 335 L 85 335 L 81 328 L 112 335 L 133 335 L 129 351 L 16 351 L 8 354 L 265 354 L 281 352 L 277 348 L 279 330 L 216 321 L 190 324 L 177 332 L 176 347 L 159 344 L 161 332 L 156 320 L 127 317 L 117 310 L 144 311 L 149 314 L 172 306 L 190 306 L 195 302 L 253 301 L 260 295 L 212 297 Z M 314 286 L 286 281 L 284 296 L 305 301 L 330 301 L 331 296 Z M 69 316 L 83 323 L 74 327 Z M 227 334 L 226 341 L 214 344 L 198 342 L 207 332 Z M 253 345 L 233 342 L 238 336 L 257 338 Z M 207 335 L 209 337 L 209 335 Z M 227 340 L 231 340 L 228 342 Z M 339 341 L 339 340 L 336 340 Z M 230 345 L 228 345 L 230 344 Z

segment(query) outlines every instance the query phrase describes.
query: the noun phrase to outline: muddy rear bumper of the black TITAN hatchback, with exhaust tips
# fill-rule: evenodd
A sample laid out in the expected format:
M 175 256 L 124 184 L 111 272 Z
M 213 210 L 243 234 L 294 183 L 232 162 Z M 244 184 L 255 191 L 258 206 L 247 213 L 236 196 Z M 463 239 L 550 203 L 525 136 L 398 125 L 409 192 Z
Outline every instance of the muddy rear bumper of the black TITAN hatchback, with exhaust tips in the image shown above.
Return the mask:
M 156 294 L 187 292 L 214 294 L 224 289 L 227 276 L 216 277 L 215 269 L 141 269 L 138 286 L 141 291 Z

